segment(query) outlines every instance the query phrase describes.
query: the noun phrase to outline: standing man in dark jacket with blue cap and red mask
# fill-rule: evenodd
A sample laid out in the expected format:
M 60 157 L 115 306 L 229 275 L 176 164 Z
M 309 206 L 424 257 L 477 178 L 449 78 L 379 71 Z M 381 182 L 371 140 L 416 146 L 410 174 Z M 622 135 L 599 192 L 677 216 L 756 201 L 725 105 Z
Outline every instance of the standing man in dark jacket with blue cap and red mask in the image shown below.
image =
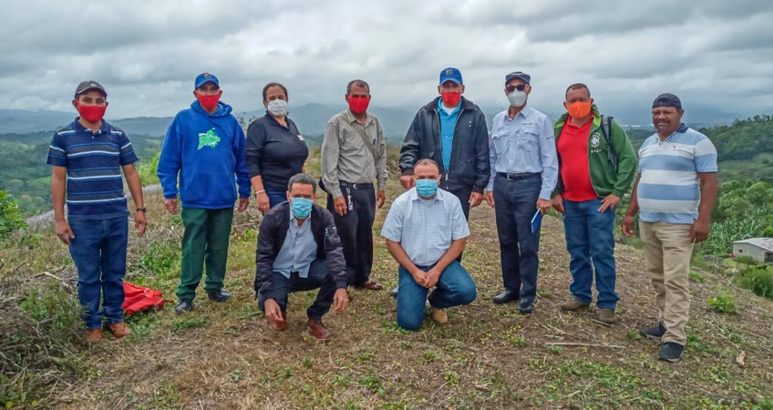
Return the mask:
M 489 182 L 489 129 L 483 111 L 464 93 L 459 69 L 440 71 L 438 94 L 419 108 L 400 149 L 400 183 L 413 188 L 413 167 L 419 159 L 440 166 L 440 188 L 459 198 L 465 218 L 480 205 Z

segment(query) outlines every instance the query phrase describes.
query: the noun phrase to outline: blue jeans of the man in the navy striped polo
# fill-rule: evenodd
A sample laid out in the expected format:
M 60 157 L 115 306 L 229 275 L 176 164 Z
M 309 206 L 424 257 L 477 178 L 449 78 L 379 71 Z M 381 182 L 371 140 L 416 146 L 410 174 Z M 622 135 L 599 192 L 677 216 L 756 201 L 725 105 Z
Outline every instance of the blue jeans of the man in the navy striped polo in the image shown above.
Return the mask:
M 123 276 L 126 274 L 126 246 L 129 220 L 72 220 L 70 255 L 77 268 L 77 298 L 84 308 L 87 329 L 123 322 Z M 101 301 L 102 309 L 99 309 Z

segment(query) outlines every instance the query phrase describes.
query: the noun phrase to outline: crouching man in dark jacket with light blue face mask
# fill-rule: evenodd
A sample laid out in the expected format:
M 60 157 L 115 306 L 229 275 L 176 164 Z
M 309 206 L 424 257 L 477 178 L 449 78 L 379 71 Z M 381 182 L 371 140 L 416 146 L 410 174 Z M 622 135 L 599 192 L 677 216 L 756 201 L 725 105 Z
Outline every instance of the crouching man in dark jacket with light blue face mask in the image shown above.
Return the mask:
M 349 305 L 346 263 L 333 215 L 314 204 L 316 183 L 297 174 L 287 184 L 287 202 L 263 217 L 256 253 L 255 293 L 258 306 L 273 330 L 287 327 L 287 295 L 319 288 L 306 313 L 309 332 L 330 337 L 322 316 L 335 303 L 335 312 Z

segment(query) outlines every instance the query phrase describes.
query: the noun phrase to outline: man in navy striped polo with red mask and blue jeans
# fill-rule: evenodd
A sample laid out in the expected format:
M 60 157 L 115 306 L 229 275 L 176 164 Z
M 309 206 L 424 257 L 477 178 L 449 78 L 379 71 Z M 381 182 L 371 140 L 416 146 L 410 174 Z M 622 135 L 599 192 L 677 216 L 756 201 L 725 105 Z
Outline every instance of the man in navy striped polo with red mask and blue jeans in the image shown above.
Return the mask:
M 104 317 L 116 337 L 131 333 L 121 308 L 129 239 L 121 170 L 137 206 L 139 235 L 147 226 L 142 185 L 134 168 L 137 156 L 126 134 L 102 119 L 107 98 L 105 87 L 97 81 L 77 86 L 72 104 L 80 116 L 54 134 L 47 160 L 53 166 L 51 196 L 57 237 L 69 245 L 77 268 L 77 297 L 84 308 L 88 342 L 102 340 Z

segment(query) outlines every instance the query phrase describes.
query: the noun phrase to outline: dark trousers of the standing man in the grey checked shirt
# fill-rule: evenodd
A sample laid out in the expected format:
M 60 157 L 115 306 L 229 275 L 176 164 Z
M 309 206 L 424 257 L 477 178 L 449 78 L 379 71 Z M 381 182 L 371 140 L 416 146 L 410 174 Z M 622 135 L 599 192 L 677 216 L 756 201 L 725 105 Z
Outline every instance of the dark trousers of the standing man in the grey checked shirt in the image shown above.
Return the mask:
M 333 196 L 327 195 L 327 210 L 333 214 L 346 260 L 347 282 L 362 287 L 373 268 L 373 220 L 376 218 L 376 191 L 373 184 L 341 183 L 347 204 L 344 216 L 335 212 Z M 348 206 L 351 204 L 351 206 Z

